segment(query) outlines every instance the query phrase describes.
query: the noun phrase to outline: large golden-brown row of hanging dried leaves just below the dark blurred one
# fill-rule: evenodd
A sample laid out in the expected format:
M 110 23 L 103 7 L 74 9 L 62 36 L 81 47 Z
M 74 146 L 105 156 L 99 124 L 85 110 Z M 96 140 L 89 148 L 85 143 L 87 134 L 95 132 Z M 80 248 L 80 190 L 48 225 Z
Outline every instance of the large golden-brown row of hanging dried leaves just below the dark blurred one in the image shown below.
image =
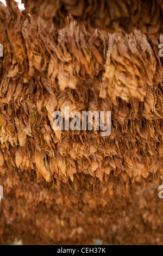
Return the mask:
M 72 17 L 58 30 L 40 18 L 17 13 L 16 5 L 2 8 L 0 19 L 8 77 L 22 77 L 27 83 L 38 74 L 60 90 L 97 84 L 99 96 L 108 94 L 114 103 L 116 97 L 143 101 L 147 87 L 161 81 L 161 36 L 159 42 L 137 29 L 131 34 L 99 29 L 88 33 Z

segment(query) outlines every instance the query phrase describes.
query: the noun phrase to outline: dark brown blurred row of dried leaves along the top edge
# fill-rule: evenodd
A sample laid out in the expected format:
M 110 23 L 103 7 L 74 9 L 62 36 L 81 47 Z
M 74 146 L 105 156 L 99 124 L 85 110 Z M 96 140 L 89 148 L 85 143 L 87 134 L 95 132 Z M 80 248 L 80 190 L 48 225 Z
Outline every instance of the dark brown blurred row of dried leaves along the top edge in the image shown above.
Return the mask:
M 123 27 L 128 33 L 134 27 L 143 33 L 157 34 L 162 32 L 161 0 L 23 0 L 30 14 L 53 21 L 55 26 L 65 26 L 65 17 L 72 15 L 84 23 L 90 31 L 101 28 L 114 32 Z

